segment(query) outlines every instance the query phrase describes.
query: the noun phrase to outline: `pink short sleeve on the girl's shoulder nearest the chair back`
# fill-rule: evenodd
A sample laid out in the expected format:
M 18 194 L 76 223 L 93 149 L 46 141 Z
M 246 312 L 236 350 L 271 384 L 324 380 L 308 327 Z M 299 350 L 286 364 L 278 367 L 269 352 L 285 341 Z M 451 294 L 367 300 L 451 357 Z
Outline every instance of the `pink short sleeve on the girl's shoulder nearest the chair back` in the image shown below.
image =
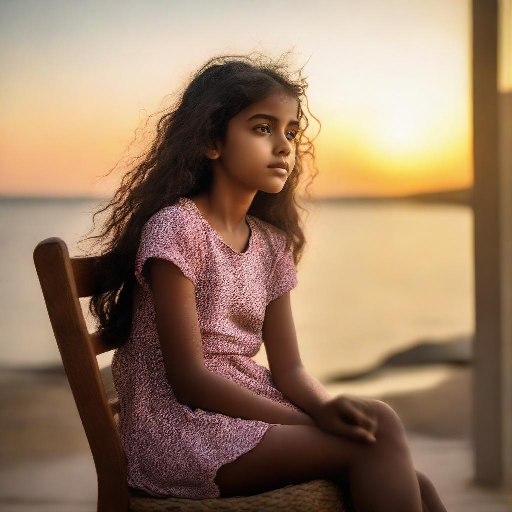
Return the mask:
M 202 226 L 195 216 L 177 206 L 167 206 L 142 228 L 135 276 L 146 290 L 150 290 L 150 285 L 142 269 L 150 258 L 173 262 L 197 286 L 204 271 L 205 254 Z

